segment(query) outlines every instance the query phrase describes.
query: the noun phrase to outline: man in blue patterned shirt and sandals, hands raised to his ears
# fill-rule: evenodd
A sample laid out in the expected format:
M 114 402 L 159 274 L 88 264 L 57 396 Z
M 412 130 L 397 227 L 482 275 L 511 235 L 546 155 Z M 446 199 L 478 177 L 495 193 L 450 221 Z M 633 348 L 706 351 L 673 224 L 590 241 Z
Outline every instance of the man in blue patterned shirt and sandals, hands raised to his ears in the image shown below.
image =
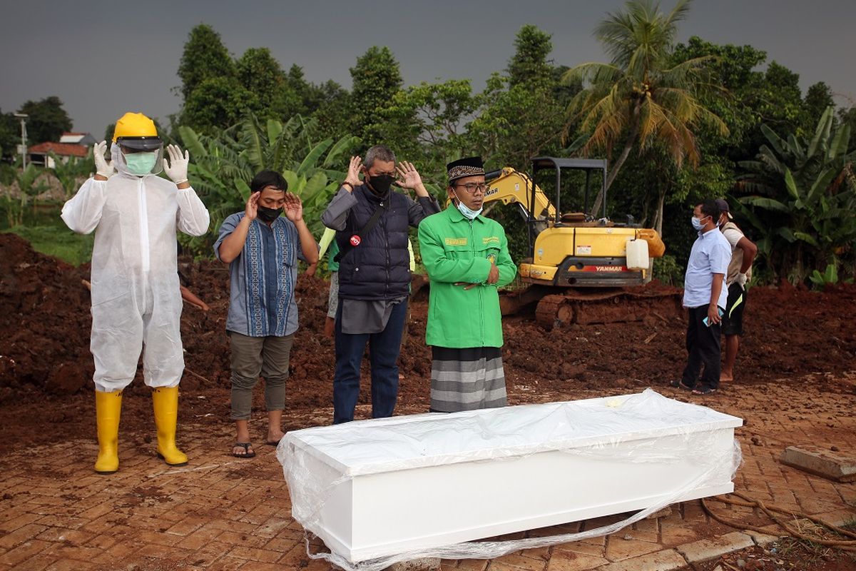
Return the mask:
M 256 455 L 247 421 L 253 386 L 265 378 L 266 443 L 282 438 L 285 379 L 297 330 L 297 260 L 318 263 L 318 245 L 303 221 L 303 205 L 279 173 L 263 170 L 250 182 L 243 212 L 223 221 L 214 244 L 217 259 L 229 264 L 226 332 L 232 348 L 232 419 L 237 438 L 232 455 Z M 285 211 L 285 217 L 280 216 Z

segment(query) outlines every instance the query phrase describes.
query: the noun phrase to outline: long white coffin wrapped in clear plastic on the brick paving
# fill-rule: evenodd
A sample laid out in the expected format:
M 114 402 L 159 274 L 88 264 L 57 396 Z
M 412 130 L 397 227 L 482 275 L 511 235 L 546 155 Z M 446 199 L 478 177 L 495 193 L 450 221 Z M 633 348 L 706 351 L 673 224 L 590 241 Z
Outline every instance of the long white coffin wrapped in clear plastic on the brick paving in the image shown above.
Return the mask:
M 734 491 L 742 420 L 652 390 L 288 432 L 292 514 L 350 562 Z

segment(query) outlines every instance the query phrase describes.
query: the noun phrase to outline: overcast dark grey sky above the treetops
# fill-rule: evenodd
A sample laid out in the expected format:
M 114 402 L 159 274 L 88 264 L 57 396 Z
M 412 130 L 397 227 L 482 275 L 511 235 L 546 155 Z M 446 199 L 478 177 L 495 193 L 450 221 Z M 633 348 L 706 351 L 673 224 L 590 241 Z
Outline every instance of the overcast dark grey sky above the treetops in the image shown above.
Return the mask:
M 0 2 L 0 109 L 57 95 L 74 129 L 96 137 L 127 110 L 165 119 L 181 99 L 176 70 L 190 29 L 205 22 L 236 57 L 269 47 L 306 79 L 350 87 L 348 68 L 388 45 L 407 85 L 471 78 L 481 89 L 514 53 L 514 33 L 535 24 L 553 36 L 553 59 L 606 61 L 591 31 L 622 0 L 369 0 L 368 2 Z M 674 0 L 663 0 L 664 11 Z M 839 105 L 856 104 L 856 0 L 696 0 L 681 23 L 716 44 L 752 45 L 800 74 L 825 81 Z

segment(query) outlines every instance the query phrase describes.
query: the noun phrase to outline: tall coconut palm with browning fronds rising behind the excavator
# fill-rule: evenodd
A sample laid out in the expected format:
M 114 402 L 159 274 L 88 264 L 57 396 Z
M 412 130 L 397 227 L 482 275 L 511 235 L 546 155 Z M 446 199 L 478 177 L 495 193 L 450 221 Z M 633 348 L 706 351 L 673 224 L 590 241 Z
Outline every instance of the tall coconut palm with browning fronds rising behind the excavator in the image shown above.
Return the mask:
M 678 0 L 665 15 L 659 3 L 630 0 L 623 11 L 609 14 L 595 28 L 611 62 L 583 63 L 563 76 L 568 83 L 581 80 L 584 86 L 568 105 L 571 121 L 580 121 L 587 138 L 581 152 L 605 150 L 611 156 L 616 146 L 623 145 L 604 190 L 615 181 L 634 145 L 640 150 L 662 145 L 680 168 L 684 160 L 698 164 L 693 128 L 706 122 L 721 134 L 728 133 L 725 123 L 698 100 L 698 93 L 708 88 L 704 72 L 710 57 L 676 65 L 671 61 L 677 24 L 689 5 L 690 0 Z M 597 212 L 602 201 L 598 193 L 591 211 Z

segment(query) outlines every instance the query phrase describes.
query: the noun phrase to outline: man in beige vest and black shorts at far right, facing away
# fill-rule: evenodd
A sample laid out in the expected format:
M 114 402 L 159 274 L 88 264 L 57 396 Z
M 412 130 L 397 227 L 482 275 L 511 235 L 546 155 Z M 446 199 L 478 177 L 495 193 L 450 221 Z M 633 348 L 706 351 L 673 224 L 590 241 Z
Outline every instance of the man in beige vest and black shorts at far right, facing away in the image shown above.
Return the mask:
M 752 261 L 758 253 L 758 247 L 746 238 L 746 235 L 732 222 L 728 202 L 717 199 L 716 205 L 722 213 L 719 216 L 719 229 L 731 245 L 731 262 L 725 285 L 728 287 L 728 305 L 722 316 L 722 334 L 725 336 L 725 362 L 719 380 L 723 383 L 734 381 L 734 360 L 740 348 L 743 336 L 743 311 L 746 309 L 746 283 L 752 278 Z

